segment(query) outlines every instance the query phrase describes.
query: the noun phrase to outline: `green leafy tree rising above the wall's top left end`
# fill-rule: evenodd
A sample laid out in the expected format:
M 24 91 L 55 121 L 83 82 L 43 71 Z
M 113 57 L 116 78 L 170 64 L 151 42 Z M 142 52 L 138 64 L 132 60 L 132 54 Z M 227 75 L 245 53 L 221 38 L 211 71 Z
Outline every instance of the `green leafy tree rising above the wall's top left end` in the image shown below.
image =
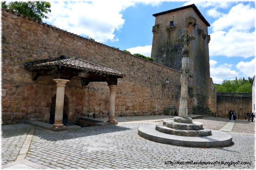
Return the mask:
M 2 1 L 2 8 L 6 8 L 8 10 L 12 10 L 23 16 L 27 16 L 30 18 L 34 18 L 38 21 L 42 21 L 42 19 L 47 19 L 48 12 L 51 12 L 51 4 L 50 2 L 45 1 L 15 1 L 15 2 L 6 2 Z

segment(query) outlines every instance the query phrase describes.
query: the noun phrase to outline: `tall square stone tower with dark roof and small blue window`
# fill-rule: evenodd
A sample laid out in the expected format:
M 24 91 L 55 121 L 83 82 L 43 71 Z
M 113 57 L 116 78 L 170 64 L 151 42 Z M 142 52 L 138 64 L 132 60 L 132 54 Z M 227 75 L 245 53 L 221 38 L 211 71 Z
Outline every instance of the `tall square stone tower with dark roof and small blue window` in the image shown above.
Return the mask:
M 176 40 L 184 30 L 188 30 L 196 39 L 189 46 L 190 84 L 188 93 L 193 105 L 193 111 L 202 111 L 209 107 L 210 97 L 210 64 L 209 48 L 210 24 L 202 16 L 195 4 L 182 6 L 172 10 L 153 14 L 156 17 L 153 26 L 153 42 L 151 57 L 156 63 L 172 69 L 181 70 L 182 45 Z M 198 110 L 199 109 L 199 110 Z

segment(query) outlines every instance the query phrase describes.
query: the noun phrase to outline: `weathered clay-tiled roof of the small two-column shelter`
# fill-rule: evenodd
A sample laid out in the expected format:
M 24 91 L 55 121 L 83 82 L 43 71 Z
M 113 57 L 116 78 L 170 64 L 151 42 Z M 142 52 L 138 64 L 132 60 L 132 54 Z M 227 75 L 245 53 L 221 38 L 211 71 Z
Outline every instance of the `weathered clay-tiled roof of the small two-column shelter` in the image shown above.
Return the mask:
M 51 60 L 40 60 L 40 61 L 32 61 L 32 62 L 26 62 L 24 63 L 24 66 L 26 69 L 29 69 L 31 71 L 33 70 L 39 70 L 43 69 L 44 67 L 48 66 L 64 66 L 64 67 L 70 67 L 74 69 L 80 69 L 84 71 L 89 71 L 96 74 L 106 74 L 106 75 L 114 75 L 114 76 L 120 76 L 124 77 L 124 73 L 121 73 L 119 71 L 115 71 L 113 69 L 109 69 L 107 67 L 103 67 L 94 63 L 90 63 L 88 61 L 84 61 L 82 59 L 78 59 L 77 57 L 60 57 L 59 59 L 55 61 Z

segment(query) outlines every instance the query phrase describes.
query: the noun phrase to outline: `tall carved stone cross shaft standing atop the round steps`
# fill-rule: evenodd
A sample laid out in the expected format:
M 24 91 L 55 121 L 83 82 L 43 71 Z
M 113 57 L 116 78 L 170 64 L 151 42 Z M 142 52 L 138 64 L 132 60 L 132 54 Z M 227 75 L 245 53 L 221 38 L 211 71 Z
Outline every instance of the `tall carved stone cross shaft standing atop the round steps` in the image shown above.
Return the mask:
M 185 30 L 184 34 L 181 36 L 177 42 L 181 42 L 184 46 L 182 48 L 182 67 L 181 67 L 181 76 L 180 76 L 180 108 L 179 108 L 179 117 L 184 118 L 184 123 L 186 122 L 185 119 L 188 119 L 188 60 L 189 60 L 189 49 L 188 44 L 191 40 L 194 40 L 195 36 L 190 36 L 188 31 Z M 182 120 L 183 122 L 183 120 Z

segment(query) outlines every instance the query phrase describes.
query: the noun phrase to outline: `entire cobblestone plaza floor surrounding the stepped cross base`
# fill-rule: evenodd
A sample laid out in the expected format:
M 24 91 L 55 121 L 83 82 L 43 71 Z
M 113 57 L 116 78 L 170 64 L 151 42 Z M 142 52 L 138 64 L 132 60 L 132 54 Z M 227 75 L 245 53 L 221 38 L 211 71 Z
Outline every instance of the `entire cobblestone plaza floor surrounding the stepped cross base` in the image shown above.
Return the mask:
M 204 123 L 204 127 L 219 130 L 228 119 L 205 117 L 194 121 Z M 229 133 L 233 137 L 234 144 L 223 148 L 189 148 L 152 142 L 138 136 L 138 127 L 157 125 L 162 121 L 142 122 L 126 121 L 120 122 L 119 125 L 84 127 L 66 132 L 51 132 L 25 124 L 19 127 L 4 125 L 2 126 L 2 168 L 14 168 L 14 163 L 19 161 L 18 155 L 24 148 L 28 150 L 25 160 L 40 165 L 38 168 L 255 168 L 254 122 L 236 121 L 232 132 Z M 32 137 L 28 140 L 30 134 Z M 197 164 L 190 164 L 192 161 Z M 200 162 L 211 164 L 200 164 Z M 237 163 L 229 166 L 231 162 Z M 21 164 L 22 162 L 19 164 L 20 168 Z M 23 168 L 32 168 L 25 163 L 22 165 Z

